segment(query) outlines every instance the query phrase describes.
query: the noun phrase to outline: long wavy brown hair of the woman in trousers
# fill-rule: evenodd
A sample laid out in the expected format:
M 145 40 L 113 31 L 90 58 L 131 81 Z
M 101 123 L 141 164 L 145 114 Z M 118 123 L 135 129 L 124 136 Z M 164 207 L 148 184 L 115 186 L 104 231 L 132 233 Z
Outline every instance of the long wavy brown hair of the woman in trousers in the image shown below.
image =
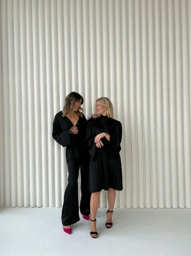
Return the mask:
M 62 111 L 63 117 L 66 116 L 66 114 L 69 114 L 70 117 L 72 116 L 73 114 L 72 108 L 78 100 L 82 100 L 82 103 L 81 103 L 82 105 L 84 100 L 83 100 L 83 97 L 78 92 L 72 91 L 68 96 L 66 96 L 65 105 Z M 79 117 L 83 117 L 83 108 L 79 107 L 78 111 L 75 111 L 75 113 L 78 114 Z

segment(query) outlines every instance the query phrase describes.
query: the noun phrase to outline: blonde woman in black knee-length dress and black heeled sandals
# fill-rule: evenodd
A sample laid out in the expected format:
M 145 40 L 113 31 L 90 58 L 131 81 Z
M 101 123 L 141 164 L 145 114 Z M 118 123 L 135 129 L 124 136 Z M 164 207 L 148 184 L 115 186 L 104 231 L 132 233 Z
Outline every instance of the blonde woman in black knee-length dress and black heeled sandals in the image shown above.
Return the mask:
M 123 189 L 121 159 L 119 152 L 122 137 L 122 125 L 113 119 L 113 105 L 106 97 L 96 103 L 99 118 L 91 119 L 86 131 L 85 143 L 90 153 L 89 191 L 91 192 L 90 214 L 91 232 L 97 238 L 96 213 L 99 207 L 102 189 L 108 191 L 109 210 L 106 228 L 112 227 L 112 214 L 116 190 Z

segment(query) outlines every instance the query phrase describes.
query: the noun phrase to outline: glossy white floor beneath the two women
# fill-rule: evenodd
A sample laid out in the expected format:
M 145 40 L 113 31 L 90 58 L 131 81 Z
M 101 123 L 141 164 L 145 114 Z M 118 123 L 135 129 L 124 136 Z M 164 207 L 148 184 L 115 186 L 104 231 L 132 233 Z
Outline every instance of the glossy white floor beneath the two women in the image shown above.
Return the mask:
M 62 230 L 61 208 L 0 208 L 0 256 L 191 256 L 191 209 L 114 209 L 105 228 L 98 209 L 98 238 L 81 218 Z

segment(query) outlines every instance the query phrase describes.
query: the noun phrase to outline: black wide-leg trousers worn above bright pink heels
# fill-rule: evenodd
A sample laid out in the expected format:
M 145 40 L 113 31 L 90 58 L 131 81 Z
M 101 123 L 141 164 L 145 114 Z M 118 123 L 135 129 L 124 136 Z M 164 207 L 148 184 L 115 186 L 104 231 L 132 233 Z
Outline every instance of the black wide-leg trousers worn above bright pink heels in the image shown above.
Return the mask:
M 81 161 L 80 158 L 67 161 L 68 185 L 64 192 L 62 207 L 62 225 L 69 226 L 80 220 L 78 204 L 78 175 L 81 174 L 81 201 L 80 212 L 82 215 L 90 214 L 91 193 L 88 190 L 89 161 Z

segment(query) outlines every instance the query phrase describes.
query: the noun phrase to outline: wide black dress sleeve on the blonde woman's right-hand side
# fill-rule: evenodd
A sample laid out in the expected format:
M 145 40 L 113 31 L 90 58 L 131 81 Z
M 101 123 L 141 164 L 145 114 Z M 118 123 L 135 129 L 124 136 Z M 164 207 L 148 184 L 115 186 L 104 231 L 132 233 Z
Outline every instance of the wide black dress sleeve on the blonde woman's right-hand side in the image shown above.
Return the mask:
M 121 150 L 121 139 L 122 139 L 122 125 L 118 121 L 117 124 L 112 125 L 111 135 L 110 135 L 110 158 L 117 158 L 120 150 Z

